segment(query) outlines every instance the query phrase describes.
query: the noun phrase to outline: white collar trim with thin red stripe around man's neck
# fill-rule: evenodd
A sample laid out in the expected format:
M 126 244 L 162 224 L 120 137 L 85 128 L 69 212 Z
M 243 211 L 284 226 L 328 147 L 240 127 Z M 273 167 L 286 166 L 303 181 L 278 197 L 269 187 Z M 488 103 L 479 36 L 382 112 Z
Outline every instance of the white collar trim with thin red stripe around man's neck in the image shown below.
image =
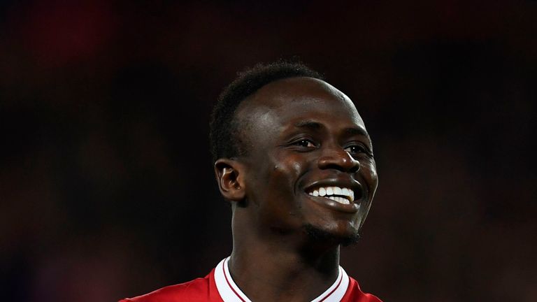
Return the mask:
M 224 302 L 252 302 L 241 289 L 235 284 L 229 273 L 229 257 L 220 261 L 215 268 L 215 282 L 218 293 Z M 349 276 L 345 270 L 339 266 L 338 278 L 324 293 L 320 294 L 311 302 L 339 302 L 345 296 L 349 286 Z

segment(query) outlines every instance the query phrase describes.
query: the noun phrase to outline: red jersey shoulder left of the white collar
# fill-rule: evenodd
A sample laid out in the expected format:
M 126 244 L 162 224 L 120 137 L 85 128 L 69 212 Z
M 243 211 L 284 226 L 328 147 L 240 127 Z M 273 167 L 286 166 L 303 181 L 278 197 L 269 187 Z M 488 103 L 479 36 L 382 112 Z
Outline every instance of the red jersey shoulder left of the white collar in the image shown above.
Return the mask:
M 170 285 L 162 287 L 149 294 L 136 296 L 134 298 L 126 298 L 120 302 L 206 302 L 218 301 L 215 299 L 215 293 L 212 287 L 211 275 L 214 275 L 214 270 L 205 278 L 197 278 L 189 282 L 180 283 L 178 285 Z

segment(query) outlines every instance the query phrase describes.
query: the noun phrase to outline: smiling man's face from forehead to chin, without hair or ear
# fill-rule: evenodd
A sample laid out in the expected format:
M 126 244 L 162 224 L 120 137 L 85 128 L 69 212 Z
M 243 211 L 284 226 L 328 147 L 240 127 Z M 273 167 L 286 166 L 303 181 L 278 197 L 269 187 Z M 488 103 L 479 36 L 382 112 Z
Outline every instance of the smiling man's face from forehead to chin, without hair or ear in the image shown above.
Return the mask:
M 371 140 L 352 101 L 313 78 L 272 82 L 243 101 L 248 215 L 259 231 L 313 227 L 355 236 L 378 178 Z

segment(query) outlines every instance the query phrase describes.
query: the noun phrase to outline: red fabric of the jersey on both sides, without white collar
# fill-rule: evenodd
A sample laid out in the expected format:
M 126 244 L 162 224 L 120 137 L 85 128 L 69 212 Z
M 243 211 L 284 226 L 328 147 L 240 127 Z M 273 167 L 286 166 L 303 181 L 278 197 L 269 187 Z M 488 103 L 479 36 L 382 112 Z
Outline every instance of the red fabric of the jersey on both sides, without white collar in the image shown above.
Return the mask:
M 361 292 L 358 282 L 349 278 L 349 287 L 341 302 L 382 302 L 372 294 Z M 123 299 L 120 302 L 223 302 L 215 283 L 215 270 L 205 278 L 157 289 L 143 296 Z

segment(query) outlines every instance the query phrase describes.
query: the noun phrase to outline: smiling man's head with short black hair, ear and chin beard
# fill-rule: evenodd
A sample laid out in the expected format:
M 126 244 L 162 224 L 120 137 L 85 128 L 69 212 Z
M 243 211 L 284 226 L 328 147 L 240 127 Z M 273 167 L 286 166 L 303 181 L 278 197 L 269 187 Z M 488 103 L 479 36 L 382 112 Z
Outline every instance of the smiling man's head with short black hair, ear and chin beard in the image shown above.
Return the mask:
M 373 147 L 355 105 L 318 73 L 288 63 L 241 73 L 210 138 L 234 238 L 357 238 L 378 183 Z

